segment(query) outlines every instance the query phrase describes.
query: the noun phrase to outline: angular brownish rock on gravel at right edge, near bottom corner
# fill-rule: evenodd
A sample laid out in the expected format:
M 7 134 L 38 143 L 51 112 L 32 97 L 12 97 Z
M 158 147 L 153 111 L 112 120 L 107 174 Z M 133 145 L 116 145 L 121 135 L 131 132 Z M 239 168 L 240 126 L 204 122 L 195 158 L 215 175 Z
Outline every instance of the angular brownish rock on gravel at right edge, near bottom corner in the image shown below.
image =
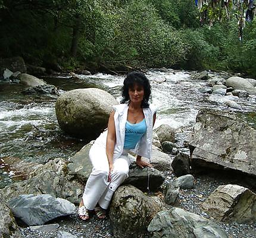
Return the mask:
M 218 221 L 256 222 L 256 194 L 239 185 L 221 185 L 202 203 Z

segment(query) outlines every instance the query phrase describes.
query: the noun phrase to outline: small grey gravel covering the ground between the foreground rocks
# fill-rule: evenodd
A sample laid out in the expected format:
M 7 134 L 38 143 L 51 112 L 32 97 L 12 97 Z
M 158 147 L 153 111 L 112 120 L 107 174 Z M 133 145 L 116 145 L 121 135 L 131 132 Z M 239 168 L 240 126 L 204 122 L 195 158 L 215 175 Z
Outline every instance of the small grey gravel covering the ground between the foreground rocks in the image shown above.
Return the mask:
M 173 174 L 166 174 L 164 184 L 176 177 Z M 193 189 L 180 190 L 179 201 L 177 207 L 181 207 L 187 211 L 194 212 L 205 218 L 210 218 L 207 213 L 201 210 L 200 204 L 210 195 L 219 185 L 232 183 L 230 179 L 217 178 L 213 176 L 197 175 L 195 176 L 195 186 Z M 163 186 L 164 187 L 164 186 Z M 163 193 L 158 192 L 158 196 Z M 213 218 L 210 218 L 213 219 Z M 26 238 L 61 238 L 60 231 L 67 231 L 79 238 L 114 238 L 110 230 L 110 221 L 107 217 L 105 220 L 99 220 L 93 214 L 89 221 L 81 221 L 77 215 L 71 215 L 67 218 L 61 218 L 52 221 L 58 223 L 60 227 L 51 232 L 32 231 L 28 227 L 22 228 L 21 233 Z M 238 223 L 221 223 L 217 222 L 224 229 L 229 238 L 255 238 L 256 224 L 238 224 Z M 145 235 L 143 238 L 146 238 Z M 73 238 L 73 237 L 68 237 Z

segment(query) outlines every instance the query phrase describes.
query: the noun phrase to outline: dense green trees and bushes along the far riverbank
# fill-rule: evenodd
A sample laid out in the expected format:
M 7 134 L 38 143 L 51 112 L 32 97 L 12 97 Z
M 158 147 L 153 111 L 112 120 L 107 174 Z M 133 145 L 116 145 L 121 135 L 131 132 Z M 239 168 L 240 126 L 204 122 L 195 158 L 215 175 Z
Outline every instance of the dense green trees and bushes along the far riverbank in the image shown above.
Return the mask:
M 209 28 L 216 9 L 202 24 L 193 0 L 0 0 L 0 56 L 70 70 L 165 66 L 255 77 L 256 19 L 239 41 L 235 17 Z

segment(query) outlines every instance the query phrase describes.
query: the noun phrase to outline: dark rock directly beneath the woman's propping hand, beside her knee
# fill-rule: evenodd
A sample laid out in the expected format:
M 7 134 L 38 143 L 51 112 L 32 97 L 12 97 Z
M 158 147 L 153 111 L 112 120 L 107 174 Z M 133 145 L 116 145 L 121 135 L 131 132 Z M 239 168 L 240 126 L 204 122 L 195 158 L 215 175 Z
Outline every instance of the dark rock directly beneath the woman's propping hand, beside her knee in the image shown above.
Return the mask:
M 149 190 L 156 191 L 164 182 L 164 174 L 159 170 L 149 170 Z M 129 177 L 124 180 L 124 185 L 133 185 L 142 191 L 148 189 L 148 167 L 141 169 L 135 163 L 130 166 Z

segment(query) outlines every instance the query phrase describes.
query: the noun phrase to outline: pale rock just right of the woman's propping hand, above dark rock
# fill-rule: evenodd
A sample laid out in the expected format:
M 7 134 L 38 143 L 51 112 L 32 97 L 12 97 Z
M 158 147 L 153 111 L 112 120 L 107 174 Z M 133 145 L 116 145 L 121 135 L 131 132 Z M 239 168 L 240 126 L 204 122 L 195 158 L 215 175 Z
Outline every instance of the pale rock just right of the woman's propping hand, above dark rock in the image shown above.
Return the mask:
M 170 156 L 168 156 L 168 154 L 163 153 L 157 147 L 152 145 L 151 164 L 155 169 L 160 171 L 172 170 L 172 161 L 173 159 Z

